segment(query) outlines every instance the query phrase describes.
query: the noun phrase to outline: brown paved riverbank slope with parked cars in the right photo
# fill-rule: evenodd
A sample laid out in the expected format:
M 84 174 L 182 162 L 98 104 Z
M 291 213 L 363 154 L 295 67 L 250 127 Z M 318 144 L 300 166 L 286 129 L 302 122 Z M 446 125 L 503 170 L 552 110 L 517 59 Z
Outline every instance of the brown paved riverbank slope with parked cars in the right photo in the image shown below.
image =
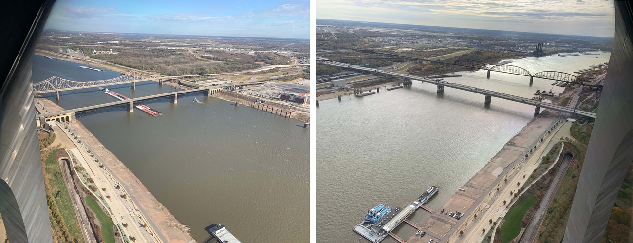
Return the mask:
M 461 189 L 464 189 L 463 191 L 457 190 L 454 192 L 453 197 L 441 209 L 453 212 L 467 212 L 473 206 L 478 206 L 479 204 L 475 202 L 481 197 L 487 196 L 484 192 L 492 190 L 491 187 L 494 187 L 493 182 L 501 175 L 506 166 L 515 161 L 556 120 L 558 120 L 558 113 L 543 111 L 541 115 L 530 121 L 499 150 L 484 168 L 461 187 Z M 436 209 L 436 211 L 439 211 L 439 209 Z M 429 232 L 444 238 L 448 234 L 452 234 L 451 230 L 456 230 L 463 222 L 464 220 L 455 221 L 449 216 L 436 213 L 423 225 Z M 408 242 L 422 242 L 420 239 L 419 236 L 413 235 Z

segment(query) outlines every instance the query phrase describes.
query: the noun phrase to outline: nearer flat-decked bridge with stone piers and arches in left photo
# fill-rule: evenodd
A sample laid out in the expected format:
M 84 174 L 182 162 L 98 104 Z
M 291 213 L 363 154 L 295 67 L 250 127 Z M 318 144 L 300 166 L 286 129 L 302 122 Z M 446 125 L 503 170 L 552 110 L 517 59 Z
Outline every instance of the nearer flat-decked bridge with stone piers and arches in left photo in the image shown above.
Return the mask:
M 125 107 L 125 108 L 128 108 L 127 110 L 130 113 L 132 113 L 134 112 L 134 107 L 137 106 L 138 104 L 141 104 L 146 101 L 151 101 L 154 99 L 170 98 L 172 103 L 176 104 L 178 103 L 179 94 L 182 95 L 182 94 L 189 94 L 189 93 L 194 93 L 194 92 L 203 92 L 206 96 L 212 96 L 213 94 L 218 94 L 219 92 L 221 92 L 223 87 L 229 87 L 229 86 L 238 87 L 238 86 L 244 86 L 244 85 L 255 85 L 255 84 L 265 84 L 265 83 L 266 82 L 249 82 L 249 83 L 241 83 L 241 84 L 227 84 L 227 85 L 217 85 L 217 86 L 211 86 L 211 87 L 199 87 L 196 89 L 189 89 L 189 90 L 179 90 L 179 91 L 168 92 L 164 94 L 154 94 L 153 96 L 137 97 L 134 99 L 126 99 L 123 101 L 115 101 L 111 103 L 97 104 L 94 106 L 86 106 L 83 108 L 67 109 L 65 111 L 44 113 L 41 115 L 36 115 L 35 118 L 39 120 L 41 123 L 44 123 L 46 121 L 51 121 L 51 120 L 70 122 L 70 121 L 77 120 L 77 115 L 82 115 L 85 113 L 89 113 L 91 111 L 98 111 L 100 109 L 106 109 L 106 108 L 112 108 L 112 107 Z

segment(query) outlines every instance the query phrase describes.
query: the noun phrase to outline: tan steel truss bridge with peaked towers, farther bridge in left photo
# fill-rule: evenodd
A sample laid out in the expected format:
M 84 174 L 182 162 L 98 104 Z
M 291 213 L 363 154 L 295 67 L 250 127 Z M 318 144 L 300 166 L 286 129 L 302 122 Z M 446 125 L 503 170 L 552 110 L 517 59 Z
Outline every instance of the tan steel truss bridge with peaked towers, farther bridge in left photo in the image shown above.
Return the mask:
M 196 75 L 179 75 L 179 76 L 168 76 L 163 77 L 160 75 L 148 75 L 146 73 L 137 72 L 132 70 L 124 75 L 116 78 L 111 78 L 108 80 L 96 80 L 89 82 L 78 82 L 73 80 L 66 80 L 60 77 L 51 77 L 42 82 L 37 82 L 33 84 L 33 94 L 42 94 L 55 92 L 55 96 L 57 100 L 60 100 L 60 91 L 65 90 L 76 90 L 76 89 L 86 89 L 92 87 L 102 87 L 104 85 L 117 85 L 117 84 L 132 84 L 132 89 L 136 89 L 136 82 L 144 82 L 144 81 L 154 81 L 158 82 L 159 85 L 163 85 L 163 82 L 167 80 L 175 80 L 180 78 L 195 78 L 195 77 L 208 77 L 215 75 L 237 75 L 239 73 L 248 73 L 248 72 L 259 72 L 263 70 L 268 70 L 272 68 L 280 68 L 280 67 L 297 67 L 297 66 L 309 66 L 309 65 L 273 65 L 273 66 L 264 66 L 261 68 L 257 68 L 254 70 L 247 70 L 242 72 L 234 72 L 234 73 L 207 73 L 207 74 L 196 74 Z M 230 86 L 230 85 L 229 85 Z M 233 85 L 235 86 L 235 85 Z

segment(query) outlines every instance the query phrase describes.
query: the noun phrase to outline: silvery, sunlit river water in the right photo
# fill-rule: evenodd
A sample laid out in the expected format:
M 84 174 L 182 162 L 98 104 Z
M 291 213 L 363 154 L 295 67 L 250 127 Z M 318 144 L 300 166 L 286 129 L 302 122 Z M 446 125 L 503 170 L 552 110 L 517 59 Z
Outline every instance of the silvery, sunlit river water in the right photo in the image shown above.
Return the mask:
M 512 60 L 532 73 L 573 73 L 605 63 L 610 54 L 547 56 Z M 598 57 L 598 58 L 596 58 Z M 536 90 L 552 90 L 551 80 L 487 71 L 456 72 L 446 82 L 471 85 L 530 99 Z M 575 74 L 575 73 L 574 73 Z M 316 110 L 317 242 L 358 242 L 352 231 L 368 209 L 410 204 L 430 185 L 439 193 L 427 203 L 439 209 L 534 117 L 534 106 L 413 81 L 411 87 L 342 101 L 320 101 Z M 411 221 L 421 225 L 418 212 Z M 398 233 L 396 229 L 396 234 Z M 403 236 L 410 236 L 403 235 Z M 406 238 L 405 238 L 406 239 Z M 365 239 L 360 240 L 368 242 Z M 396 242 L 387 237 L 384 242 Z

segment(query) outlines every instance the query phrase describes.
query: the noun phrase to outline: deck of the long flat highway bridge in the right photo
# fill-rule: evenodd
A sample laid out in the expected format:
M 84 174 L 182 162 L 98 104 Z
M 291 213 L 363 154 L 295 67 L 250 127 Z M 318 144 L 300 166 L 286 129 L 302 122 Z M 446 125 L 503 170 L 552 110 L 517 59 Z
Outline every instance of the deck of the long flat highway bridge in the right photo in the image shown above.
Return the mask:
M 566 106 L 558 106 L 556 104 L 544 103 L 542 101 L 536 101 L 534 99 L 529 99 L 529 98 L 520 97 L 520 96 L 513 96 L 511 94 L 503 94 L 503 93 L 495 92 L 495 91 L 492 91 L 492 90 L 479 89 L 479 88 L 471 87 L 471 86 L 468 86 L 468 85 L 454 84 L 454 83 L 449 83 L 449 82 L 445 82 L 445 81 L 436 81 L 436 80 L 432 80 L 432 79 L 429 79 L 429 78 L 415 77 L 415 76 L 410 76 L 408 74 L 394 73 L 394 72 L 378 70 L 378 69 L 373 69 L 373 68 L 365 68 L 365 67 L 362 67 L 362 66 L 348 65 L 348 64 L 345 64 L 345 63 L 329 61 L 329 60 L 323 59 L 323 58 L 317 58 L 317 59 L 321 60 L 322 61 L 321 63 L 325 64 L 325 65 L 340 66 L 342 68 L 351 68 L 351 69 L 363 70 L 363 71 L 374 72 L 374 73 L 384 73 L 386 75 L 391 75 L 391 76 L 394 76 L 394 77 L 409 78 L 411 80 L 428 82 L 428 83 L 431 83 L 431 84 L 442 85 L 442 86 L 451 87 L 451 88 L 454 88 L 454 89 L 467 90 L 467 91 L 470 91 L 470 92 L 475 92 L 477 94 L 482 94 L 484 96 L 498 97 L 498 98 L 501 98 L 501 99 L 507 99 L 509 101 L 515 101 L 515 102 L 523 103 L 523 104 L 530 104 L 532 106 L 538 106 L 538 107 L 541 107 L 541 108 L 553 109 L 555 111 L 561 111 L 561 112 L 571 113 L 571 114 L 575 114 L 575 115 L 587 116 L 589 118 L 594 118 L 594 119 L 596 118 L 596 113 L 591 113 L 589 111 L 582 111 L 580 109 L 569 108 L 569 107 L 566 107 Z

